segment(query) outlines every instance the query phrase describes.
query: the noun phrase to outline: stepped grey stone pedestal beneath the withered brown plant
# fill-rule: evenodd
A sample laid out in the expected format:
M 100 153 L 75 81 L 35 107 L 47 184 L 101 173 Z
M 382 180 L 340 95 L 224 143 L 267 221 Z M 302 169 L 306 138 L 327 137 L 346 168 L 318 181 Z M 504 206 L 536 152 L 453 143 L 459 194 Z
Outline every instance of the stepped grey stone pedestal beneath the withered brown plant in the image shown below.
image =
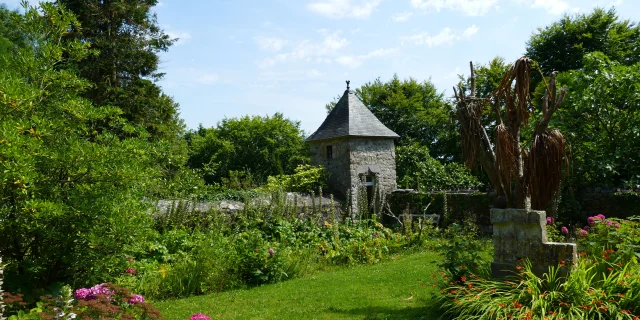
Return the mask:
M 547 242 L 544 211 L 491 209 L 491 223 L 494 247 L 491 274 L 494 277 L 515 275 L 521 259 L 529 259 L 538 276 L 548 272 L 549 266 L 557 266 L 561 261 L 571 266 L 578 259 L 575 243 Z

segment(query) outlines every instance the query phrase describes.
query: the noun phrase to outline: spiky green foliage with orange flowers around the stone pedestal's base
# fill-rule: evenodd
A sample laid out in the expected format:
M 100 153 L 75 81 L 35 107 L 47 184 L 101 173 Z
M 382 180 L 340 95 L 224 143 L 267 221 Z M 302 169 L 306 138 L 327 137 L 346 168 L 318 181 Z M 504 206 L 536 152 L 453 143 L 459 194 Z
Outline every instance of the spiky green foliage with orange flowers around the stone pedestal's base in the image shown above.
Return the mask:
M 553 219 L 547 221 L 553 225 Z M 461 319 L 640 319 L 640 245 L 638 219 L 589 217 L 577 237 L 580 259 L 542 277 L 522 260 L 507 280 L 490 280 L 482 270 L 464 277 L 442 272 L 439 296 L 444 311 Z M 562 276 L 562 270 L 570 271 Z

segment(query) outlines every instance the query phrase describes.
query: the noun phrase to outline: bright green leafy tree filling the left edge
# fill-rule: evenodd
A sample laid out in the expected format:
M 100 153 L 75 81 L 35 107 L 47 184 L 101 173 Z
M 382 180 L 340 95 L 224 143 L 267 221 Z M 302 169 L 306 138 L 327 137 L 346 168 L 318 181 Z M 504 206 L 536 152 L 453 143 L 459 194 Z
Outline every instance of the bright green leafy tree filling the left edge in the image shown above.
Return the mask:
M 142 186 L 158 177 L 146 139 L 96 127 L 128 124 L 79 95 L 91 84 L 60 68 L 87 54 L 86 43 L 60 41 L 78 22 L 41 6 L 18 25 L 26 46 L 0 56 L 0 251 L 23 290 L 96 283 L 124 267 L 126 248 L 150 232 Z

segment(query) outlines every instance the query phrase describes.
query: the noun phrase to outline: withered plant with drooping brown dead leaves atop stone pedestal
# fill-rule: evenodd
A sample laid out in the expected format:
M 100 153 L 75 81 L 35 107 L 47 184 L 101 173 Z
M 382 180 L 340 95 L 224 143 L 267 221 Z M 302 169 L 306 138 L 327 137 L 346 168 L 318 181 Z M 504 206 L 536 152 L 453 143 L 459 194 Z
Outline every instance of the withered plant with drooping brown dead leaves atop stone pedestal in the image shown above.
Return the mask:
M 541 117 L 529 127 L 531 114 L 536 112 L 529 95 L 533 64 L 529 58 L 518 59 L 496 91 L 480 98 L 475 96 L 475 75 L 470 63 L 470 94 L 465 95 L 462 86 L 453 90 L 466 165 L 480 165 L 498 195 L 506 197 L 508 207 L 544 210 L 560 189 L 563 164 L 568 165 L 564 137 L 557 129 L 549 128 L 566 89 L 556 90 L 557 73 L 551 73 L 549 82 L 545 81 Z M 485 110 L 495 116 L 495 123 L 486 123 L 495 125 L 493 139 L 483 125 Z M 530 141 L 525 141 L 524 136 L 530 136 Z

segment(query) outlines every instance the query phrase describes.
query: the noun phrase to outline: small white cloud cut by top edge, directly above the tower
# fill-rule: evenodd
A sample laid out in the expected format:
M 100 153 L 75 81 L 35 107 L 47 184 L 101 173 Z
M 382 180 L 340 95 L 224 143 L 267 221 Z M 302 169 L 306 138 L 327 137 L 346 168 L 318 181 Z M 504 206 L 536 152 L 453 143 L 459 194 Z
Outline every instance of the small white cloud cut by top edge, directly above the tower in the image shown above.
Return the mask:
M 309 3 L 307 8 L 319 15 L 332 18 L 366 18 L 382 0 L 317 0 Z

